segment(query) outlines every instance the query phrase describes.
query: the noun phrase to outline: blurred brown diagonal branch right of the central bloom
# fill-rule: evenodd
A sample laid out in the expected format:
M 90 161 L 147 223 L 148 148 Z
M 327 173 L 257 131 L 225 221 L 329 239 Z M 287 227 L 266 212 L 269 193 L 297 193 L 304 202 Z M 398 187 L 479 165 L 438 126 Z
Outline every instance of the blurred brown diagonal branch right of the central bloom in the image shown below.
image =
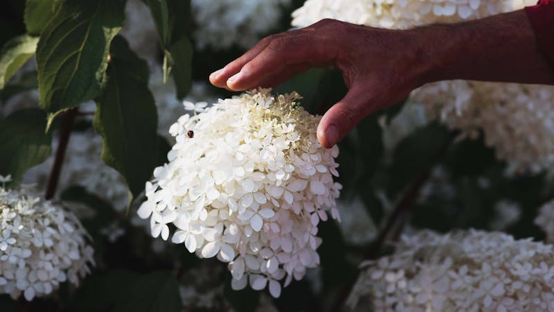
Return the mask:
M 454 139 L 458 135 L 458 132 L 452 132 L 450 134 L 450 137 L 445 141 L 445 144 L 440 147 L 436 155 L 433 157 L 432 164 L 425 169 L 411 184 L 409 189 L 406 190 L 404 193 L 404 196 L 400 199 L 400 202 L 398 202 L 398 205 L 396 205 L 395 209 L 393 210 L 393 213 L 388 218 L 385 226 L 383 229 L 379 232 L 379 235 L 377 236 L 377 239 L 370 245 L 368 248 L 368 251 L 366 254 L 364 254 L 364 260 L 370 260 L 375 259 L 379 256 L 379 252 L 383 249 L 384 245 L 386 243 L 390 243 L 393 241 L 397 241 L 398 237 L 402 233 L 402 229 L 404 228 L 404 225 L 406 224 L 407 216 L 411 210 L 411 207 L 415 204 L 415 202 L 418 200 L 420 195 L 420 190 L 429 180 L 429 177 L 431 176 L 431 169 L 433 168 L 434 164 L 440 162 L 443 157 L 445 157 L 448 149 L 450 146 L 452 146 L 452 143 L 454 142 Z M 393 237 L 393 239 L 389 239 L 390 237 Z M 355 280 L 352 281 L 350 284 L 345 286 L 341 289 L 341 292 L 338 295 L 337 301 L 333 305 L 331 311 L 332 312 L 339 312 L 341 311 L 341 308 L 348 299 L 348 295 L 350 295 L 350 291 L 352 291 L 352 288 L 355 285 Z

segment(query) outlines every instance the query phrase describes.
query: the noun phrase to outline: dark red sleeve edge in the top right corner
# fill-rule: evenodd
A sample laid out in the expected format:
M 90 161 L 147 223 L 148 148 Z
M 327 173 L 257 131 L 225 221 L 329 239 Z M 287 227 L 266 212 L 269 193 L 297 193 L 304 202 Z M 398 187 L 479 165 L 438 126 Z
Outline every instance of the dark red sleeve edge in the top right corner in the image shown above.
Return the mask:
M 539 49 L 554 65 L 554 0 L 539 0 L 536 6 L 528 6 L 525 12 L 537 35 Z

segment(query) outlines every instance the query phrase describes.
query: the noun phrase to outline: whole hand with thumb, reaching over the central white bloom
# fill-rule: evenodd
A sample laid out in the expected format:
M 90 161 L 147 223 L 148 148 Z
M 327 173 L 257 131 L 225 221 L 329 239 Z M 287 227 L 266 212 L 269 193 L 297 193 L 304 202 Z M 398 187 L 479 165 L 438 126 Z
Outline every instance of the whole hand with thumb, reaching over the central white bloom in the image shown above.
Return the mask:
M 278 85 L 311 67 L 337 67 L 349 91 L 324 114 L 317 129 L 321 145 L 330 148 L 368 114 L 399 103 L 423 84 L 427 62 L 415 34 L 324 19 L 265 37 L 212 73 L 210 81 L 240 91 Z

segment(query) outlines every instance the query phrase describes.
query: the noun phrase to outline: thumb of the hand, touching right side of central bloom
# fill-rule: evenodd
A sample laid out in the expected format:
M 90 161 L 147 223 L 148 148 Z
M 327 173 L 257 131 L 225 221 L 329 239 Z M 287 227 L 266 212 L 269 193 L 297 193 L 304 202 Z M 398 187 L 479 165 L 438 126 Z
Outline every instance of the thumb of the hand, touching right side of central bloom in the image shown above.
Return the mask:
M 317 139 L 324 148 L 331 148 L 348 135 L 361 119 L 373 112 L 368 88 L 352 85 L 344 98 L 334 104 L 321 118 Z

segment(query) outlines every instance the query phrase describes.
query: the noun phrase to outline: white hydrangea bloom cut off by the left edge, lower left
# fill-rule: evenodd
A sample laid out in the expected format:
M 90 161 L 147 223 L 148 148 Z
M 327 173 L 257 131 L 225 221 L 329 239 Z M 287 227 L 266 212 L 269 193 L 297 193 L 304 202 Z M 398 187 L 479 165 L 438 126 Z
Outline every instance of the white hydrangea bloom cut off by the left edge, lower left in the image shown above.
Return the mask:
M 28 187 L 0 188 L 0 293 L 26 300 L 78 284 L 93 265 L 93 249 L 79 220 Z

